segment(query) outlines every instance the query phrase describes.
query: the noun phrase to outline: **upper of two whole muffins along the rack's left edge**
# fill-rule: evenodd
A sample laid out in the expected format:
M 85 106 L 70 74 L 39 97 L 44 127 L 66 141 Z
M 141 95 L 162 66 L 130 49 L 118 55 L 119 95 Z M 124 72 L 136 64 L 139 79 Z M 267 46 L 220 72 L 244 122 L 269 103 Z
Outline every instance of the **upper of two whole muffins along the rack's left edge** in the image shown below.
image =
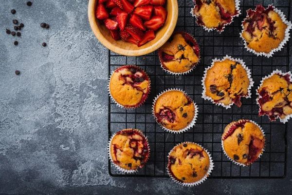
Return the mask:
M 150 79 L 138 66 L 121 66 L 110 77 L 109 92 L 112 100 L 119 106 L 137 108 L 148 97 Z

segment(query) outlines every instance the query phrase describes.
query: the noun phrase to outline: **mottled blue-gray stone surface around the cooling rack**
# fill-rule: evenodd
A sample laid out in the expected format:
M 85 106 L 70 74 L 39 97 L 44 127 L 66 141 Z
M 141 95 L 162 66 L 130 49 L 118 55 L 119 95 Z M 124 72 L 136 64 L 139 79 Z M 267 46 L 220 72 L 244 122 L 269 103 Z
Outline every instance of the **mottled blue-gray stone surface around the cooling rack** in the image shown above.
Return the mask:
M 0 2 L 0 194 L 291 194 L 291 131 L 284 179 L 187 188 L 169 178 L 109 176 L 108 50 L 91 31 L 88 0 L 25 2 Z M 5 33 L 13 19 L 25 24 L 20 38 Z

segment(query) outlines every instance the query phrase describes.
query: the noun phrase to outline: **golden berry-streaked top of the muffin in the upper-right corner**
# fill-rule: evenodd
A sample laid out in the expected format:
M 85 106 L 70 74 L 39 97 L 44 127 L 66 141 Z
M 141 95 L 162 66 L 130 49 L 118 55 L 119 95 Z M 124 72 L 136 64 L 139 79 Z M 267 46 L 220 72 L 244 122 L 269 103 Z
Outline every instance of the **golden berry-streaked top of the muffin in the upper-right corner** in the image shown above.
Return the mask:
M 256 6 L 256 10 L 249 9 L 247 14 L 248 17 L 243 21 L 242 33 L 247 47 L 263 53 L 270 53 L 277 48 L 285 38 L 287 25 L 274 12 L 273 6 L 265 9 L 260 4 Z

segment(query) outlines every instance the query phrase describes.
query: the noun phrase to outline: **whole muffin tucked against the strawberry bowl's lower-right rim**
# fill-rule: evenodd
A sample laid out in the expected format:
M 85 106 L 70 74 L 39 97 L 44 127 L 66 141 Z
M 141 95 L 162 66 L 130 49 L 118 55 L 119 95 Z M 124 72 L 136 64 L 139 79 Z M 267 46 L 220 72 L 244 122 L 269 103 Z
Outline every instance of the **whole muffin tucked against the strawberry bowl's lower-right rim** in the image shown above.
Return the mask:
M 199 45 L 190 34 L 177 31 L 158 50 L 161 67 L 173 75 L 189 73 L 200 61 Z

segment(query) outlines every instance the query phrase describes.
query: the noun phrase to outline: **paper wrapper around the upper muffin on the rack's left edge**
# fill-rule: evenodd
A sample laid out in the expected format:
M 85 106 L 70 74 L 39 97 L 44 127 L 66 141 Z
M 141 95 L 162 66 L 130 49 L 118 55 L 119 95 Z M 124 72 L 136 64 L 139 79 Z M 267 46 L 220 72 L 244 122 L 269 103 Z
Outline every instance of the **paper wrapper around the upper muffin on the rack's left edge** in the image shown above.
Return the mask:
M 146 77 L 148 78 L 149 80 L 149 87 L 148 87 L 148 90 L 147 90 L 147 97 L 144 99 L 144 101 L 141 101 L 140 103 L 136 104 L 135 106 L 123 106 L 122 104 L 118 103 L 111 95 L 111 92 L 110 92 L 110 79 L 112 77 L 112 74 L 117 70 L 117 69 L 120 69 L 120 68 L 123 68 L 123 67 L 128 67 L 128 68 L 131 68 L 131 67 L 134 67 L 134 68 L 137 68 L 139 69 L 141 72 L 143 72 Z M 146 99 L 148 98 L 149 94 L 150 94 L 150 90 L 151 90 L 151 80 L 150 78 L 148 77 L 147 73 L 145 70 L 143 70 L 142 68 L 140 68 L 139 66 L 135 66 L 135 65 L 124 65 L 124 66 L 120 66 L 118 68 L 116 68 L 114 71 L 112 71 L 111 75 L 110 75 L 110 78 L 109 78 L 109 81 L 108 81 L 108 93 L 109 93 L 109 96 L 110 96 L 110 99 L 115 103 L 117 104 L 119 107 L 121 108 L 124 108 L 124 109 L 135 109 L 135 108 L 138 108 L 139 106 L 141 106 L 142 104 L 144 104 L 144 102 L 146 101 Z

